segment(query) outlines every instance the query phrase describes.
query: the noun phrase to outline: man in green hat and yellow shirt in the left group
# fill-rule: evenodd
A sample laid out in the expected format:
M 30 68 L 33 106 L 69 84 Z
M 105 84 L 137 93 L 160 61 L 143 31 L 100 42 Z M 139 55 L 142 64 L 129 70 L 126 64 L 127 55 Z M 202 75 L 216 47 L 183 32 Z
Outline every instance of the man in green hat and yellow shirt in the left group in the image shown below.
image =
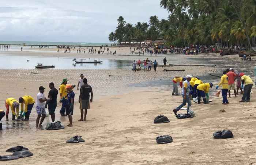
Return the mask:
M 61 106 L 61 109 L 60 109 L 61 116 L 65 116 L 65 111 L 67 111 L 66 110 L 66 105 L 67 105 L 66 85 L 67 85 L 67 83 L 68 83 L 68 80 L 65 78 L 65 79 L 62 80 L 62 82 L 60 84 L 60 102 L 62 103 L 62 106 Z

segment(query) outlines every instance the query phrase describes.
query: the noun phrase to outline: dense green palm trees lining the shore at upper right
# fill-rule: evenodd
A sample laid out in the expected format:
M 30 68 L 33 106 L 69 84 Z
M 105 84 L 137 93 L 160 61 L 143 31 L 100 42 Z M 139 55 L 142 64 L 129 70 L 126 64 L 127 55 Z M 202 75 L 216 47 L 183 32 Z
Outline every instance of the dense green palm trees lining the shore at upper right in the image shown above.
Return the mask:
M 149 24 L 133 26 L 120 16 L 111 42 L 142 42 L 163 38 L 168 46 L 216 44 L 253 49 L 256 37 L 256 0 L 160 0 L 167 19 L 151 16 Z

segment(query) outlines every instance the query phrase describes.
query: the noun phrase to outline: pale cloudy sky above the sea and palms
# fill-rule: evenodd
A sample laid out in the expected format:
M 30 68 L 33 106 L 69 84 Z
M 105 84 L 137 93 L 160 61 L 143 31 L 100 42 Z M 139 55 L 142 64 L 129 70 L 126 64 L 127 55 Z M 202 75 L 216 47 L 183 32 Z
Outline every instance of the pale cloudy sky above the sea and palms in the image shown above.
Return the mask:
M 167 19 L 160 0 L 1 0 L 0 40 L 109 42 L 123 16 L 127 23 Z

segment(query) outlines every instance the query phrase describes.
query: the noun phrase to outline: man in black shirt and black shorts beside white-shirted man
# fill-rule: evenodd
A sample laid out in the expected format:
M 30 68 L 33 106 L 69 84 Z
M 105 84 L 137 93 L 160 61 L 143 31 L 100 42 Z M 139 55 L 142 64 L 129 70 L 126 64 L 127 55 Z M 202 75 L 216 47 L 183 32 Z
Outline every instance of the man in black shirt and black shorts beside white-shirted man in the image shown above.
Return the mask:
M 58 95 L 58 90 L 54 87 L 54 83 L 49 83 L 49 88 L 51 89 L 48 94 L 48 99 L 45 104 L 45 108 L 47 107 L 48 104 L 48 110 L 49 110 L 49 115 L 51 115 L 52 122 L 55 121 L 55 109 L 57 107 L 57 95 Z

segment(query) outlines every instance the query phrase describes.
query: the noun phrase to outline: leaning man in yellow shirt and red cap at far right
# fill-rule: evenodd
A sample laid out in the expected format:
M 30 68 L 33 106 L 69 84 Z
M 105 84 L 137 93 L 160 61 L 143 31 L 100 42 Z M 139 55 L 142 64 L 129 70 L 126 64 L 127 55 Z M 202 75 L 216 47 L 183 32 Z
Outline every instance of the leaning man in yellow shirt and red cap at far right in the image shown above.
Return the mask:
M 250 102 L 250 94 L 252 91 L 252 79 L 249 76 L 244 75 L 244 73 L 240 73 L 240 77 L 242 80 L 242 85 L 241 87 L 244 87 L 244 93 L 242 100 L 240 102 Z M 245 85 L 245 86 L 244 86 Z

